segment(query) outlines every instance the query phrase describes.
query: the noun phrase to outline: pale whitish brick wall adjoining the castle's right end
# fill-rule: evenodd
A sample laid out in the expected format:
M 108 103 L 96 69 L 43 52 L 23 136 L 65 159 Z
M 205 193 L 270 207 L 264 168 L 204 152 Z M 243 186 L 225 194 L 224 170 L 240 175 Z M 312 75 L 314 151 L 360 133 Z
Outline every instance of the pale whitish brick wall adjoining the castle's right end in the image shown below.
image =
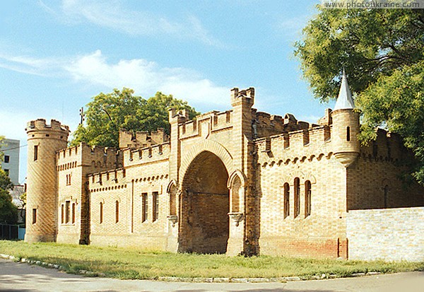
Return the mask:
M 347 214 L 349 259 L 424 261 L 424 207 Z

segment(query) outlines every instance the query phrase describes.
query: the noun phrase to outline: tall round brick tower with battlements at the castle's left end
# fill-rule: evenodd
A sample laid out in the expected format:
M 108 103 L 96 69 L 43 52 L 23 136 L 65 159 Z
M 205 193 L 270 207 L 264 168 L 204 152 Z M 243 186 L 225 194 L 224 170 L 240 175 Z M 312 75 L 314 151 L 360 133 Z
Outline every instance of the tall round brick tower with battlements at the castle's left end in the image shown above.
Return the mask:
M 57 235 L 56 151 L 66 148 L 69 127 L 52 119 L 28 122 L 27 215 L 25 241 L 55 241 Z

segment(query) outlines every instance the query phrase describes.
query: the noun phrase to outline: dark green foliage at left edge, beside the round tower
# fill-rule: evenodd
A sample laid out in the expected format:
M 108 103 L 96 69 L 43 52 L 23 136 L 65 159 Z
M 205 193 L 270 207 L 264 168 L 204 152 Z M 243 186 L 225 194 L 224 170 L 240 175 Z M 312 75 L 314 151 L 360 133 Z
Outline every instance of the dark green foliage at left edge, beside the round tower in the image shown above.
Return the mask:
M 12 203 L 8 190 L 13 183 L 4 170 L 0 169 L 0 223 L 14 224 L 18 221 L 18 209 Z

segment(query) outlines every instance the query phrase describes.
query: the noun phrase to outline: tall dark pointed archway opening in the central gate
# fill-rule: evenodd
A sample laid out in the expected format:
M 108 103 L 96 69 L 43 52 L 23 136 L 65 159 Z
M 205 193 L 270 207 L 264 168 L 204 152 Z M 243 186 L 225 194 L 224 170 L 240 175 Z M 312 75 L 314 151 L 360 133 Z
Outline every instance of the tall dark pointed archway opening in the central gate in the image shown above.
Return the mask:
M 182 185 L 179 250 L 225 253 L 230 196 L 228 171 L 215 154 L 204 151 L 192 161 Z

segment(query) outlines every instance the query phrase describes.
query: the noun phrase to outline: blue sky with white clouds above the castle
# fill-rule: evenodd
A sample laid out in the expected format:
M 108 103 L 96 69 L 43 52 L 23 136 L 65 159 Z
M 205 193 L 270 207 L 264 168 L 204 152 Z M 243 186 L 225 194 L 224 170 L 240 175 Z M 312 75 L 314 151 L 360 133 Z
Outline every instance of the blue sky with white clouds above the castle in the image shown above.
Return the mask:
M 258 110 L 314 122 L 329 105 L 302 81 L 293 43 L 317 3 L 4 1 L 0 135 L 25 145 L 26 122 L 39 117 L 73 130 L 90 98 L 124 86 L 143 98 L 173 94 L 201 112 L 229 109 L 230 88 L 253 86 Z

